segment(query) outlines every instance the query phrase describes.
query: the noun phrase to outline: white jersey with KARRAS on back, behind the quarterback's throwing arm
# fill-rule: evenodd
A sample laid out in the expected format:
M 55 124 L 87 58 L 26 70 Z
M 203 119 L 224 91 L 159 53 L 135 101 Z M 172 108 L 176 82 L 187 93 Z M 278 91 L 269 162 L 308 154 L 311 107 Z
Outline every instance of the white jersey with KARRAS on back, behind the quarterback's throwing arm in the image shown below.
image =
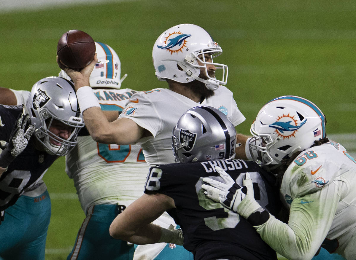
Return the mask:
M 131 89 L 93 89 L 102 110 L 122 111 L 136 93 Z M 74 180 L 84 212 L 97 204 L 128 206 L 143 194 L 148 165 L 139 145 L 101 144 L 79 136 L 66 156 L 66 172 Z

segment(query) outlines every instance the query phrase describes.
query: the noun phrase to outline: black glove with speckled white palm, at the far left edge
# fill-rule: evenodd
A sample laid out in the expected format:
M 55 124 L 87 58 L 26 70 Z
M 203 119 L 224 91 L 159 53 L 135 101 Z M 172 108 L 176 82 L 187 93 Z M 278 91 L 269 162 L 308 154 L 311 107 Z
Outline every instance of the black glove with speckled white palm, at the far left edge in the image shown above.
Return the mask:
M 35 126 L 30 124 L 28 114 L 20 114 L 16 127 L 10 134 L 9 142 L 0 154 L 0 167 L 6 169 L 7 166 L 25 150 L 31 135 L 35 131 Z

